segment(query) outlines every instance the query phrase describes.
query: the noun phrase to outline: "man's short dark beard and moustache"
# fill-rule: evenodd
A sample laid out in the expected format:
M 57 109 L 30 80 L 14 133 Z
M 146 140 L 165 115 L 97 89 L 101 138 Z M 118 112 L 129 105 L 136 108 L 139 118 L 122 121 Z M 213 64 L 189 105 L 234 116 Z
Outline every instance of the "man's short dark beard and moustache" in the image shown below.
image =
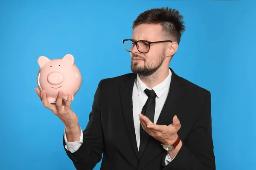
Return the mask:
M 135 57 L 144 60 L 144 65 L 139 66 L 138 62 L 133 62 L 133 58 Z M 163 64 L 163 60 L 164 60 L 164 50 L 160 54 L 160 56 L 157 57 L 157 59 L 151 63 L 147 63 L 147 60 L 145 58 L 142 58 L 137 54 L 133 54 L 131 57 L 131 71 L 134 72 L 135 74 L 139 74 L 144 77 L 150 76 L 151 74 L 154 74 L 158 70 L 158 68 L 160 68 L 160 66 Z

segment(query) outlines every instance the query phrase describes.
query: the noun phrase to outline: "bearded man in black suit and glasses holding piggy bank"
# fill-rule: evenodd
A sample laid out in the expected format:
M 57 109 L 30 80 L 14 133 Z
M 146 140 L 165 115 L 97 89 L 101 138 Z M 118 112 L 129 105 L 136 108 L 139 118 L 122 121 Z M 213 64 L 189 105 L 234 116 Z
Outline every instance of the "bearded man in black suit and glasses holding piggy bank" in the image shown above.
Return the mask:
M 65 125 L 63 144 L 78 170 L 215 170 L 210 92 L 177 76 L 169 63 L 177 51 L 183 16 L 154 8 L 133 23 L 133 73 L 103 79 L 89 122 L 81 130 L 71 96 L 56 104 L 36 88 L 43 105 Z

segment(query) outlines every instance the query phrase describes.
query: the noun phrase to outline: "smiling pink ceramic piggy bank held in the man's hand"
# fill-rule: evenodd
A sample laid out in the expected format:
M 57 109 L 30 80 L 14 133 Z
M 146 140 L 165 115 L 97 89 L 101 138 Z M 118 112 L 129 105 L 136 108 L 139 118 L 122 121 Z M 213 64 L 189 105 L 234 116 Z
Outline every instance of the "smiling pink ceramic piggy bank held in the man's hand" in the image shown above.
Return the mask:
M 79 69 L 74 64 L 73 55 L 67 54 L 62 59 L 48 59 L 45 56 L 38 58 L 40 70 L 38 72 L 38 88 L 46 92 L 48 102 L 56 102 L 58 91 L 63 91 L 63 98 L 75 94 L 81 87 L 82 77 Z

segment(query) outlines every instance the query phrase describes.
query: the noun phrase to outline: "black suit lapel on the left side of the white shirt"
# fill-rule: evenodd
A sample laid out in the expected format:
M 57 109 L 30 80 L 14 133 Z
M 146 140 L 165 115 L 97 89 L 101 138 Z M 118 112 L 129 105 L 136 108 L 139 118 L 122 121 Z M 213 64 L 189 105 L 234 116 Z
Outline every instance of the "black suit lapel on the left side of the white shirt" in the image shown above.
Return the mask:
M 132 74 L 131 77 L 125 79 L 125 81 L 120 85 L 120 97 L 122 113 L 124 116 L 125 126 L 131 141 L 132 148 L 135 155 L 139 161 L 139 151 L 136 142 L 135 128 L 134 128 L 134 118 L 133 118 L 133 104 L 132 104 L 132 92 L 134 87 L 134 81 L 137 75 Z

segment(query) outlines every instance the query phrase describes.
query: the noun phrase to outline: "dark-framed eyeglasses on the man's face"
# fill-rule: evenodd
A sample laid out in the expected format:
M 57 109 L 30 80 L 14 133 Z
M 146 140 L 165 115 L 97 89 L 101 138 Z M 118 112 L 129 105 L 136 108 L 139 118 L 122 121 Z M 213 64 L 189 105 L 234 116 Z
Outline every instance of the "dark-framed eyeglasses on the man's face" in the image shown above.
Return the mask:
M 134 47 L 134 45 L 136 45 L 138 51 L 140 51 L 141 53 L 147 53 L 150 49 L 150 44 L 154 44 L 154 43 L 158 43 L 158 42 L 172 42 L 171 40 L 155 41 L 155 42 L 139 40 L 139 41 L 134 42 L 131 39 L 125 39 L 122 41 L 123 41 L 124 48 L 126 51 L 131 52 L 131 49 Z

